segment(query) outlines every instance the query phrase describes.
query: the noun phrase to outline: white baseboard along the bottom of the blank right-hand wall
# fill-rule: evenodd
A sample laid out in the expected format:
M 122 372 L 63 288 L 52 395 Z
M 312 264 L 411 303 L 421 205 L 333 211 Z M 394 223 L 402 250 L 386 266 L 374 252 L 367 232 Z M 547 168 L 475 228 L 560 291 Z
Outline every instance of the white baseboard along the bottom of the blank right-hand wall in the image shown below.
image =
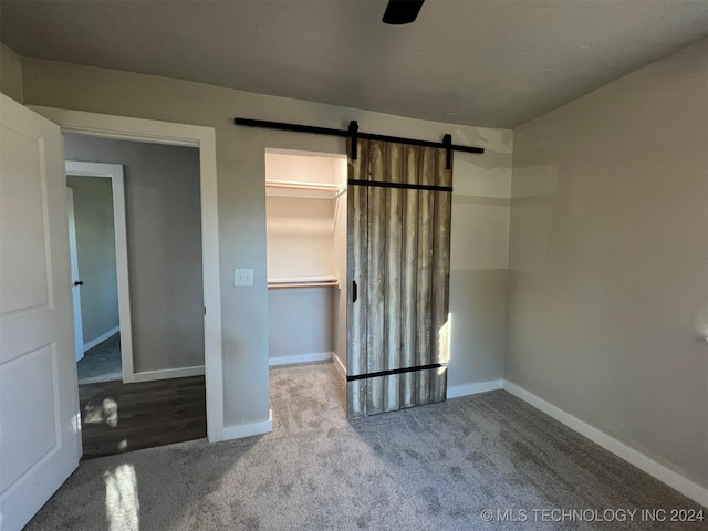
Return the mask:
M 538 397 L 537 395 L 528 392 L 522 387 L 519 387 L 518 385 L 509 381 L 503 381 L 503 388 L 512 395 L 518 396 L 523 402 L 529 403 L 537 409 L 545 413 L 548 416 L 553 417 L 555 420 L 564 424 L 572 430 L 577 431 L 584 437 L 587 437 L 590 440 L 602 446 L 604 449 L 611 451 L 621 459 L 624 459 L 625 461 L 634 465 L 639 470 L 643 470 L 649 476 L 658 479 L 663 483 L 668 485 L 670 488 L 679 491 L 687 498 L 690 498 L 696 503 L 708 507 L 708 489 L 705 489 L 700 485 L 693 482 L 680 473 L 675 472 L 674 470 L 659 462 L 656 462 L 641 451 L 628 447 L 624 442 L 615 439 L 604 431 L 601 431 L 597 428 L 594 428 L 593 426 L 574 417 L 570 413 L 564 412 L 563 409 L 554 406 L 549 402 L 545 402 L 543 398 Z

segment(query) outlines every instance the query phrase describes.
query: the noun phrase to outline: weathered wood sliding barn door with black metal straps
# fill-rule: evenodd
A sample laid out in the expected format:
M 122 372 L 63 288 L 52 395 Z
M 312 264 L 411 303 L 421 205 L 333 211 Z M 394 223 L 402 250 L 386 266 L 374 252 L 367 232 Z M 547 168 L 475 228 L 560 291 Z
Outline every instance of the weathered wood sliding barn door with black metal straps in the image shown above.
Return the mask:
M 451 185 L 444 149 L 350 146 L 350 418 L 445 400 Z

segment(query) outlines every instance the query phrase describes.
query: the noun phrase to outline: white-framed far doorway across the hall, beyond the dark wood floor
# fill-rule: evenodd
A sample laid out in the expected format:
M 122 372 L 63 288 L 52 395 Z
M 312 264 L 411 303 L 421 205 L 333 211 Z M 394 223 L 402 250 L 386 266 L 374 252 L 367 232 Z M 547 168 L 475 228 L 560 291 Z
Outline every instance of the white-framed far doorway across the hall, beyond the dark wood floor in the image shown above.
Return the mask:
M 65 170 L 79 384 L 123 381 L 122 355 L 132 361 L 123 166 L 66 160 Z

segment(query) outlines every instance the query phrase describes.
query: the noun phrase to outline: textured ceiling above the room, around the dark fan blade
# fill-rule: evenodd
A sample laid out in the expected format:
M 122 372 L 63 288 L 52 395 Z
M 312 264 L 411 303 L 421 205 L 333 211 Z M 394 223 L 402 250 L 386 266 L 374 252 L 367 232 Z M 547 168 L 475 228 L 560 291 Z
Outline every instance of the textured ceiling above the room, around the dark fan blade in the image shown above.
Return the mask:
M 708 0 L 2 1 L 22 55 L 513 127 L 708 37 Z M 708 58 L 707 58 L 708 61 Z

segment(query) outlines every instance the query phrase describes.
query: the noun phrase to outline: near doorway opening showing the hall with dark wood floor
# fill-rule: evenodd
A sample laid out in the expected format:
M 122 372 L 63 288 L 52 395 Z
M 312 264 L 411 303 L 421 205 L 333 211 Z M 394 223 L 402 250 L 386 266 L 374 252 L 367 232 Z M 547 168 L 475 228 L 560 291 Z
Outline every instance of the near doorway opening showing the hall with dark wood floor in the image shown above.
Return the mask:
M 202 438 L 199 149 L 63 139 L 83 458 Z

